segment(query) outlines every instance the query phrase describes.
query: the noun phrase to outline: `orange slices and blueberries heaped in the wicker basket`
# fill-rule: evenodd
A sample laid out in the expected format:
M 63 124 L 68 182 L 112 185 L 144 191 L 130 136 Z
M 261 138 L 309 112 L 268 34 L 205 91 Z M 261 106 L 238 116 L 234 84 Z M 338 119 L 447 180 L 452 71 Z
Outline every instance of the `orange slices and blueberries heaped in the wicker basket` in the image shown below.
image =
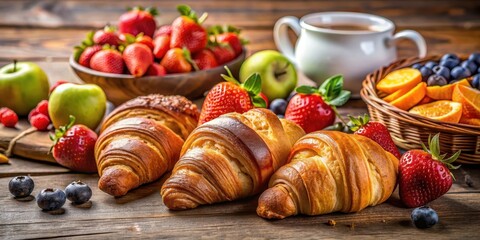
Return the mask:
M 431 119 L 480 126 L 480 54 L 454 54 L 393 71 L 376 88 L 391 105 Z

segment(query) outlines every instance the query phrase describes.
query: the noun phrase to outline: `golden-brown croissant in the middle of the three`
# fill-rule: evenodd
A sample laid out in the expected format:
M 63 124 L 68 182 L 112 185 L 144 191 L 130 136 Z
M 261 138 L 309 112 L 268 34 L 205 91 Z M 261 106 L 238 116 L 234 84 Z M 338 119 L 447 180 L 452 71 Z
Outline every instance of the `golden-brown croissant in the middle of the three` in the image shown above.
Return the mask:
M 295 123 L 266 109 L 209 121 L 185 141 L 180 160 L 162 186 L 163 202 L 181 210 L 260 193 L 304 134 Z

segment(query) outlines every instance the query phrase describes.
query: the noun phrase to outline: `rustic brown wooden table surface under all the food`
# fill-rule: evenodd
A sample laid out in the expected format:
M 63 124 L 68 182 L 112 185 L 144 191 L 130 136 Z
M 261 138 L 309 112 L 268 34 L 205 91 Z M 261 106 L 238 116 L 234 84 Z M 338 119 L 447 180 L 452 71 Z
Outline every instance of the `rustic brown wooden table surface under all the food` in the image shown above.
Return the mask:
M 230 23 L 241 27 L 250 40 L 250 52 L 275 49 L 272 28 L 281 16 L 301 17 L 317 11 L 357 11 L 392 19 L 398 30 L 414 29 L 426 39 L 429 54 L 480 50 L 479 1 L 183 1 L 198 12 L 207 11 L 208 24 Z M 50 80 L 78 81 L 69 70 L 72 47 L 88 30 L 114 23 L 132 5 L 154 5 L 160 10 L 160 24 L 177 16 L 177 1 L 23 1 L 0 2 L 0 65 L 11 59 L 39 62 Z M 416 54 L 413 44 L 401 42 L 399 56 Z M 353 100 L 342 114 L 366 112 L 365 104 Z M 1 131 L 1 129 L 0 129 Z M 477 237 L 480 224 L 480 169 L 463 166 L 455 171 L 450 191 L 430 205 L 440 223 L 419 230 L 410 223 L 411 209 L 401 206 L 398 194 L 377 207 L 356 214 L 297 216 L 267 221 L 256 216 L 257 197 L 172 212 L 163 205 L 159 188 L 164 179 L 113 198 L 97 187 L 98 176 L 79 174 L 53 165 L 20 158 L 0 165 L 0 238 L 462 238 Z M 34 201 L 19 202 L 8 192 L 11 177 L 30 174 L 33 194 L 47 187 L 64 188 L 73 180 L 93 188 L 91 208 L 70 203 L 65 213 L 40 211 Z M 465 183 L 468 175 L 473 186 Z M 328 226 L 328 220 L 337 225 Z

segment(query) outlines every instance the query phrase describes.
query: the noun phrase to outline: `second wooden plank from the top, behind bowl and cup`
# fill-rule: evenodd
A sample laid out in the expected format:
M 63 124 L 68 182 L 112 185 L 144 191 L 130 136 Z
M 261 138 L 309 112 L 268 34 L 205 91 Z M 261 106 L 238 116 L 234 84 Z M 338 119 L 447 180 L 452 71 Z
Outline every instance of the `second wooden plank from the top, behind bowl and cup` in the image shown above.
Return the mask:
M 403 28 L 398 29 L 403 30 Z M 417 28 L 424 37 L 428 46 L 428 54 L 444 54 L 455 52 L 470 54 L 480 49 L 480 28 L 459 29 L 444 28 Z M 73 29 L 21 29 L 0 27 L 0 59 L 23 59 L 44 57 L 68 57 L 73 46 L 79 44 L 85 37 L 87 30 Z M 273 42 L 272 29 L 252 30 L 245 29 L 243 36 L 250 41 L 247 45 L 249 53 L 265 49 L 276 49 Z M 410 57 L 417 54 L 413 43 L 402 41 L 399 43 L 399 57 Z M 52 67 L 58 68 L 56 65 Z

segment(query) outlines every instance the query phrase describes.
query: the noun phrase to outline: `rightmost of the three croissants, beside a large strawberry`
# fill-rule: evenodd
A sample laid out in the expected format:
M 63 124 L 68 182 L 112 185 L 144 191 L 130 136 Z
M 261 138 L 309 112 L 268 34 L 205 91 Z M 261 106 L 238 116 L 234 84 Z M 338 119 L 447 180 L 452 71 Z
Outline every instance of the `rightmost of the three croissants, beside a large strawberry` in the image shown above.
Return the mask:
M 295 143 L 289 161 L 260 196 L 260 217 L 358 212 L 386 201 L 396 184 L 398 159 L 360 135 L 310 133 Z

